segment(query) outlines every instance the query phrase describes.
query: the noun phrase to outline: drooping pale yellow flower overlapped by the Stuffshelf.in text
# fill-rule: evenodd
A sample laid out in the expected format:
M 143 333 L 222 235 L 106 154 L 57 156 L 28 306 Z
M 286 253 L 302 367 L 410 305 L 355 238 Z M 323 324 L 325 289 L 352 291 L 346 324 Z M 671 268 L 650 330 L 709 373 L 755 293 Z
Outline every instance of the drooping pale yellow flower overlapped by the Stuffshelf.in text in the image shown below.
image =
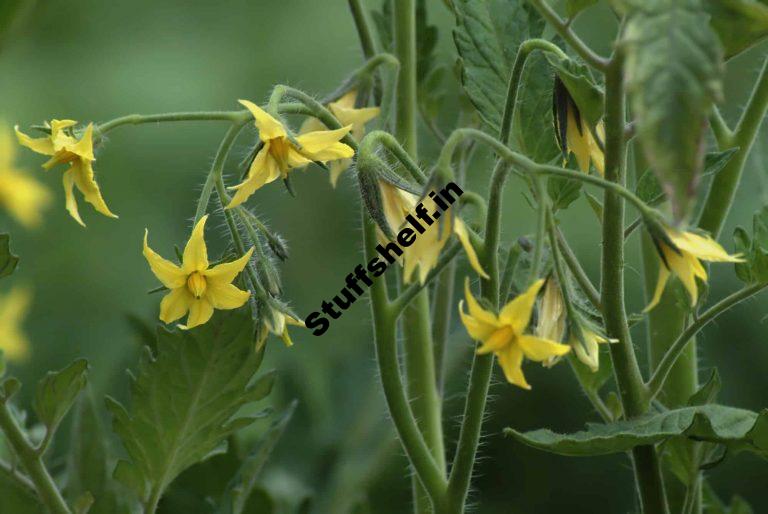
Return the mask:
M 405 217 L 409 213 L 413 213 L 416 205 L 419 203 L 419 197 L 408 191 L 404 191 L 399 187 L 395 187 L 392 184 L 379 181 L 379 190 L 381 192 L 382 209 L 384 211 L 384 217 L 387 220 L 390 230 L 397 234 L 398 230 L 405 223 Z M 425 196 L 421 203 L 427 209 L 428 212 L 440 211 L 434 200 L 429 196 Z M 445 247 L 451 234 L 455 234 L 464 247 L 464 252 L 467 254 L 467 259 L 472 268 L 483 278 L 488 278 L 488 274 L 483 270 L 480 265 L 480 260 L 477 258 L 477 253 L 472 243 L 469 240 L 469 232 L 467 226 L 458 216 L 450 216 L 449 213 L 445 213 L 446 216 L 442 222 L 442 227 L 438 224 L 437 220 L 433 220 L 433 223 L 426 228 L 423 234 L 418 234 L 415 241 L 411 246 L 404 249 L 404 254 L 401 260 L 403 264 L 403 280 L 406 283 L 411 282 L 413 274 L 418 270 L 419 282 L 422 284 L 427 279 L 427 275 L 437 265 L 437 260 L 440 257 L 440 252 Z M 380 243 L 386 244 L 386 236 L 379 231 L 378 239 Z

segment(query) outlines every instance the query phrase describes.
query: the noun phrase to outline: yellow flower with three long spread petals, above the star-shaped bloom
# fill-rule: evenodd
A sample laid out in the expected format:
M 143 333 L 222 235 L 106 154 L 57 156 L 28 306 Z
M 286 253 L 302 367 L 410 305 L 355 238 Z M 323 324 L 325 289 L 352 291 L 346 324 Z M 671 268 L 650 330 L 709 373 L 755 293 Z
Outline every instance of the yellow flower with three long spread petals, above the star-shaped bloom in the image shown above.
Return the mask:
M 240 103 L 253 114 L 256 128 L 259 129 L 259 139 L 264 146 L 253 159 L 245 181 L 230 188 L 236 193 L 227 209 L 246 201 L 264 184 L 286 178 L 288 171 L 293 168 L 314 161 L 347 159 L 355 154 L 350 146 L 339 142 L 352 129 L 351 125 L 337 130 L 308 132 L 291 140 L 288 130 L 267 111 L 247 100 L 240 100 Z

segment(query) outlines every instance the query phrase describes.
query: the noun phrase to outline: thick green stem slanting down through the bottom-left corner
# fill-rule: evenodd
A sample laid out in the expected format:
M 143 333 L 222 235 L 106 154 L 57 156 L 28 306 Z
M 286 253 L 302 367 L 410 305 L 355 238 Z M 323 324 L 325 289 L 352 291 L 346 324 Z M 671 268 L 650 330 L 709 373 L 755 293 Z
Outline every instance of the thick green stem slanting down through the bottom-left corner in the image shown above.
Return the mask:
M 29 475 L 40 501 L 52 514 L 72 514 L 56 483 L 51 478 L 41 456 L 19 428 L 5 402 L 0 402 L 0 429 Z

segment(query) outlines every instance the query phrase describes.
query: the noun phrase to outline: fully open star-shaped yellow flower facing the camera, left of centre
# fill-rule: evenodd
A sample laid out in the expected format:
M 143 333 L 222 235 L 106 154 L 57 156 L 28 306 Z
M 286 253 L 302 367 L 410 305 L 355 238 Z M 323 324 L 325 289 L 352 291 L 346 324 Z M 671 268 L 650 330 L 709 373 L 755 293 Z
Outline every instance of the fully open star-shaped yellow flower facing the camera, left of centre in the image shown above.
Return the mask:
M 147 244 L 149 231 L 144 232 L 144 257 L 152 273 L 170 289 L 160 302 L 160 319 L 173 323 L 187 312 L 187 324 L 181 328 L 193 328 L 206 323 L 213 309 L 237 309 L 248 301 L 248 291 L 238 289 L 231 282 L 243 271 L 253 254 L 253 248 L 232 262 L 208 267 L 208 249 L 203 232 L 208 216 L 197 222 L 184 248 L 181 266 L 163 259 Z

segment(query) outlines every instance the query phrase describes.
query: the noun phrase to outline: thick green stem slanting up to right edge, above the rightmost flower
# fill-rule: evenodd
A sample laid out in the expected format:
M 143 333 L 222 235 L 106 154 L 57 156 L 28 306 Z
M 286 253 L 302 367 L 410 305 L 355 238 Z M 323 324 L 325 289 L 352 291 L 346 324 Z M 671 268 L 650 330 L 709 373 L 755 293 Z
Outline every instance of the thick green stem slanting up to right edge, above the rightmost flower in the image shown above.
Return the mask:
M 712 180 L 704 209 L 699 219 L 699 227 L 710 232 L 717 239 L 723 228 L 725 218 L 733 204 L 736 189 L 739 186 L 744 164 L 752 149 L 760 124 L 768 109 L 768 58 L 763 63 L 760 76 L 752 90 L 752 95 L 744 108 L 744 112 L 736 125 L 732 138 L 725 141 L 727 147 L 738 147 L 739 150 L 731 157 L 725 168 Z M 721 149 L 723 149 L 721 147 Z

